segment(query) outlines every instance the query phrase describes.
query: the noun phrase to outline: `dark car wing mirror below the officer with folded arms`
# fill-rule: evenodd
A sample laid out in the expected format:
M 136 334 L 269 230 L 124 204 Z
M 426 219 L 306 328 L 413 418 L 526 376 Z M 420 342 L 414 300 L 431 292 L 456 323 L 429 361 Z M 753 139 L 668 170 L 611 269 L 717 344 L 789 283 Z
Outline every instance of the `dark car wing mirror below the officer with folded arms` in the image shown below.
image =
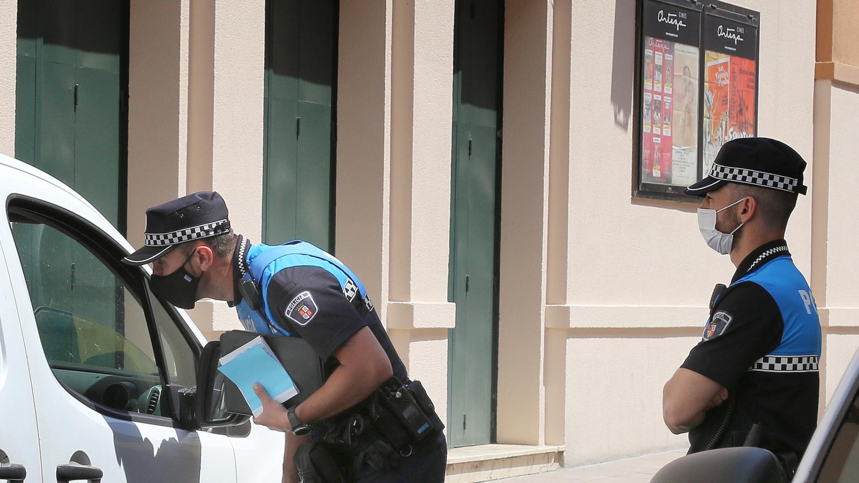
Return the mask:
M 782 463 L 763 448 L 722 448 L 668 463 L 650 483 L 786 483 Z

